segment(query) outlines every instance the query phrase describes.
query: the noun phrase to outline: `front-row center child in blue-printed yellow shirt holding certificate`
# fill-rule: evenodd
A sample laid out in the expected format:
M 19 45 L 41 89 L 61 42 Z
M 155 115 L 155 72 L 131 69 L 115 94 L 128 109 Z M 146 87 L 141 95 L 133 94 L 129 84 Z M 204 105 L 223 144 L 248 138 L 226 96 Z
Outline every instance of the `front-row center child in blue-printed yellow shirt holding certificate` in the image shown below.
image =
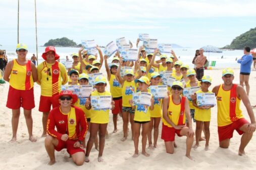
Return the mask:
M 154 108 L 154 100 L 153 96 L 148 93 L 148 86 L 150 84 L 149 79 L 146 76 L 140 77 L 138 80 L 139 84 L 139 90 L 140 94 L 142 92 L 146 92 L 146 95 L 149 95 L 149 98 L 147 99 L 141 99 L 141 100 L 150 100 L 150 101 L 144 101 L 147 103 L 150 103 L 150 105 L 144 105 L 144 104 L 136 104 L 136 106 L 133 105 L 133 100 L 129 100 L 130 106 L 135 109 L 135 114 L 134 114 L 134 147 L 135 147 L 135 152 L 132 157 L 138 157 L 139 155 L 139 150 L 138 150 L 138 144 L 139 144 L 139 135 L 140 135 L 140 127 L 142 124 L 142 154 L 144 156 L 149 156 L 149 154 L 146 152 L 146 137 L 147 133 L 149 130 L 149 122 L 150 122 L 150 112 L 149 110 L 153 110 Z

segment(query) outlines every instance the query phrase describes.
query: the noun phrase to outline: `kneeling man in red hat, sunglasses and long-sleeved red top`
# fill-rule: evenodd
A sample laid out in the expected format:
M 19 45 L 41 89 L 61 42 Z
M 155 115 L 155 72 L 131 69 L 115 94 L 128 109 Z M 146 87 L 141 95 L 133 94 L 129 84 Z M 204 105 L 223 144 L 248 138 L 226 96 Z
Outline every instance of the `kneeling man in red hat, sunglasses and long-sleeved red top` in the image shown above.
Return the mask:
M 55 150 L 67 148 L 76 165 L 82 165 L 85 159 L 82 143 L 88 129 L 85 114 L 80 108 L 71 106 L 77 101 L 71 91 L 62 91 L 54 100 L 61 106 L 50 111 L 47 121 L 49 135 L 45 137 L 44 145 L 50 158 L 48 164 L 56 162 Z

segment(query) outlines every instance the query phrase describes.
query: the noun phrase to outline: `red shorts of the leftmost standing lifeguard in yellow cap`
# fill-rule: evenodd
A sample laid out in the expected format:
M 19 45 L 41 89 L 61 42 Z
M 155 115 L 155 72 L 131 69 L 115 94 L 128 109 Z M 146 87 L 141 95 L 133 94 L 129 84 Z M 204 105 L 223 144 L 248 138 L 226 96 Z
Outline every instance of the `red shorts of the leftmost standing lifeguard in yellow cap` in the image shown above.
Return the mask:
M 20 109 L 20 107 L 26 110 L 33 109 L 35 107 L 34 89 L 22 91 L 10 86 L 6 107 L 9 109 Z

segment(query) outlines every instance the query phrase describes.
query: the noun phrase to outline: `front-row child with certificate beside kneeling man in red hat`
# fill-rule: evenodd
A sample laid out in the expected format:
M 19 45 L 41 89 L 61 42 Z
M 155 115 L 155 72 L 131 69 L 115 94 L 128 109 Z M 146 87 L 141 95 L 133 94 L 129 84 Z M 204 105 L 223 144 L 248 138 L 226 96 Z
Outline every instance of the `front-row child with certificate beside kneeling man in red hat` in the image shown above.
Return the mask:
M 115 108 L 115 103 L 112 99 L 111 93 L 106 91 L 105 88 L 107 86 L 107 79 L 104 76 L 97 76 L 94 81 L 94 85 L 96 90 L 91 93 L 89 100 L 86 101 L 85 107 L 86 109 L 91 109 L 91 128 L 90 128 L 90 137 L 87 142 L 86 147 L 86 153 L 85 153 L 85 161 L 89 162 L 89 154 L 92 148 L 92 145 L 97 138 L 97 132 L 99 131 L 99 151 L 98 151 L 98 161 L 103 161 L 103 158 L 101 157 L 103 155 L 103 150 L 105 146 L 105 134 L 107 130 L 107 126 L 109 123 L 109 109 Z M 103 103 L 104 101 L 100 100 L 91 100 L 92 97 L 97 97 L 97 99 L 100 98 L 100 96 L 106 96 L 106 99 L 104 101 L 108 101 L 108 98 L 111 98 L 110 103 Z M 101 102 L 101 103 L 98 103 Z M 103 105 L 106 105 L 105 109 L 100 109 L 97 107 L 92 108 L 92 104 L 97 103 L 96 105 L 98 107 L 101 107 Z M 94 106 L 94 105 L 93 105 Z

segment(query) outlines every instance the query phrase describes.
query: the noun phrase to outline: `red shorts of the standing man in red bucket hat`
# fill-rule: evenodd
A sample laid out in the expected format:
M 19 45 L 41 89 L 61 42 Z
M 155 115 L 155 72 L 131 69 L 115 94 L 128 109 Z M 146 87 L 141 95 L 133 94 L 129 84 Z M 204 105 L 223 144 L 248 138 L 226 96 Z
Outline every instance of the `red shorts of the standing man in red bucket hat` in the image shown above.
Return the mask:
M 50 106 L 52 105 L 53 105 L 53 108 L 60 106 L 59 103 L 56 103 L 54 101 L 54 97 L 40 96 L 40 103 L 39 103 L 40 112 L 49 112 Z

